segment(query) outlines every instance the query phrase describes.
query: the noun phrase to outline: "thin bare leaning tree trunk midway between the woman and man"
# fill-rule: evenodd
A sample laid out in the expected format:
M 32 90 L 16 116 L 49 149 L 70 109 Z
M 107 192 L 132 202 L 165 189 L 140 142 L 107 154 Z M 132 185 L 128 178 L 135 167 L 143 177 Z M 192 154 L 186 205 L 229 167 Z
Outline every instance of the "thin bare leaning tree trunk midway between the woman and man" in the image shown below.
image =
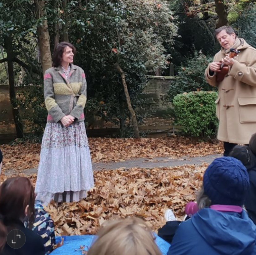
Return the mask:
M 134 129 L 135 138 L 140 138 L 137 117 L 136 117 L 134 109 L 132 108 L 132 105 L 131 105 L 131 98 L 130 98 L 130 95 L 129 95 L 129 92 L 128 92 L 128 87 L 127 87 L 126 80 L 125 80 L 125 73 L 122 70 L 121 66 L 119 66 L 119 64 L 116 64 L 115 68 L 119 72 L 119 74 L 121 75 L 122 85 L 123 85 L 124 91 L 125 91 L 125 97 L 126 97 L 127 106 L 128 106 L 128 109 L 129 109 L 129 111 L 131 113 L 131 120 L 132 120 L 132 123 L 133 123 L 133 129 Z

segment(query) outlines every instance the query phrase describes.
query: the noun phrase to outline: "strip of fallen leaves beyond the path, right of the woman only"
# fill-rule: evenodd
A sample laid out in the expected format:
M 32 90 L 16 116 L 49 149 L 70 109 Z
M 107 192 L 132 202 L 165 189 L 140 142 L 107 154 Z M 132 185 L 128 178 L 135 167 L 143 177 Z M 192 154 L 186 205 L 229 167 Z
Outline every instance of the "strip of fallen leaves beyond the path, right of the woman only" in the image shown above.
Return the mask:
M 223 152 L 221 143 L 207 143 L 184 137 L 91 138 L 89 142 L 94 162 L 119 162 L 131 158 L 197 157 Z

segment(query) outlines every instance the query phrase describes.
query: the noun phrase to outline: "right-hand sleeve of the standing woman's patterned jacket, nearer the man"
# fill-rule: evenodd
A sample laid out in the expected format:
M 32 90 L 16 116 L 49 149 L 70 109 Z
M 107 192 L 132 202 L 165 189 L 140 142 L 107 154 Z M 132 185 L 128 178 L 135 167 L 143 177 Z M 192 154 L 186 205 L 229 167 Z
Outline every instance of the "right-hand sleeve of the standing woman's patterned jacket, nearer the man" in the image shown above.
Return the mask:
M 86 83 L 84 71 L 82 72 L 81 75 L 82 75 L 82 86 L 79 91 L 80 96 L 77 100 L 76 106 L 70 112 L 70 115 L 77 119 L 79 119 L 81 115 L 84 113 L 84 107 L 87 100 L 87 93 L 86 93 L 87 83 Z

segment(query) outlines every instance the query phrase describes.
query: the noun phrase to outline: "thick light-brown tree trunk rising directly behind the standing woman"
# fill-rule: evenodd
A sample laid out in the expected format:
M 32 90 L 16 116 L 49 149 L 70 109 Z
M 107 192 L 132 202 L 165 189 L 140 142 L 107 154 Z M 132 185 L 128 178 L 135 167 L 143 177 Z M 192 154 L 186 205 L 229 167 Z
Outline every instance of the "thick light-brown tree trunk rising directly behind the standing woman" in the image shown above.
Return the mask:
M 38 19 L 45 16 L 45 1 L 44 0 L 35 0 L 36 5 L 36 16 Z M 40 50 L 40 59 L 41 65 L 44 72 L 52 67 L 52 56 L 50 49 L 50 37 L 48 32 L 48 23 L 47 19 L 42 20 L 42 25 L 38 26 L 38 39 L 39 39 L 39 50 Z

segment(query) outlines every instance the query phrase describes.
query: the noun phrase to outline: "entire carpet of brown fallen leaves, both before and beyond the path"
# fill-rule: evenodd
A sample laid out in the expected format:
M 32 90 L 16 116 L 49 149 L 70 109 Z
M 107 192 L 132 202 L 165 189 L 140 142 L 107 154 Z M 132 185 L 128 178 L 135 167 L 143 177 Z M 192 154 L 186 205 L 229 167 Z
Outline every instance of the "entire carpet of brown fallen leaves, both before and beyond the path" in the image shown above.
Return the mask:
M 222 152 L 219 143 L 205 143 L 188 138 L 112 139 L 90 138 L 94 162 L 124 161 L 131 158 L 179 158 L 203 156 Z M 38 166 L 40 144 L 23 143 L 1 146 L 4 170 L 22 170 Z M 166 168 L 131 168 L 94 172 L 95 187 L 86 199 L 78 203 L 47 206 L 55 221 L 57 235 L 96 234 L 107 220 L 130 216 L 143 218 L 157 232 L 163 224 L 166 209 L 173 209 L 178 219 L 184 215 L 187 202 L 195 199 L 207 164 Z M 9 177 L 9 176 L 8 176 Z M 35 185 L 36 174 L 29 176 Z

